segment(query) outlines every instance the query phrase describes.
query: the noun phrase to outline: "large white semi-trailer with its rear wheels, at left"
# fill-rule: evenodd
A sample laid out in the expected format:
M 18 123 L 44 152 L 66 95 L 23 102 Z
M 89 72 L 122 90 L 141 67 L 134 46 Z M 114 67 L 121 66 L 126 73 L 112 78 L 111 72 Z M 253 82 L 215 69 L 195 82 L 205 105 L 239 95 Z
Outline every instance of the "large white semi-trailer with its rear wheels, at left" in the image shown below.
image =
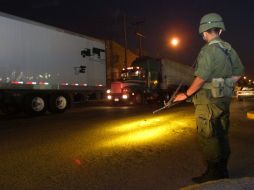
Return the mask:
M 105 86 L 104 41 L 0 13 L 3 113 L 62 113 Z

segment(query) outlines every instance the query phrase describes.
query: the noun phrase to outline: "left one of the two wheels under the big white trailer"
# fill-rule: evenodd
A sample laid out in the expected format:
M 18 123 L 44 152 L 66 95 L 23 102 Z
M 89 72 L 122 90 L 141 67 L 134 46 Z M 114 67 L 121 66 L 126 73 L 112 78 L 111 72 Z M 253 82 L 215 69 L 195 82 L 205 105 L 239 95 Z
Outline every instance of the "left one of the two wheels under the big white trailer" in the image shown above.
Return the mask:
M 25 113 L 37 116 L 42 115 L 47 110 L 47 102 L 42 95 L 29 95 L 25 97 Z

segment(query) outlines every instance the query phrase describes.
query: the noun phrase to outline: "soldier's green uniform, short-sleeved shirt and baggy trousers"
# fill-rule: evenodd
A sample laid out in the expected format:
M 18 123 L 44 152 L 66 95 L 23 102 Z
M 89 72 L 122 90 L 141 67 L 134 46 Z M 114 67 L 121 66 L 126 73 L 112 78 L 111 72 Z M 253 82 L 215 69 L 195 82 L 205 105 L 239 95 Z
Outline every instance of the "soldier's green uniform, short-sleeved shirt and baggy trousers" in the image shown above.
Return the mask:
M 207 43 L 197 58 L 195 76 L 208 84 L 214 78 L 230 78 L 243 74 L 243 65 L 236 51 L 219 37 Z M 205 85 L 204 85 L 205 86 Z M 228 139 L 231 97 L 214 98 L 211 90 L 202 88 L 193 96 L 198 139 L 205 160 L 217 164 L 227 177 L 230 155 Z M 219 164 L 219 165 L 218 165 Z

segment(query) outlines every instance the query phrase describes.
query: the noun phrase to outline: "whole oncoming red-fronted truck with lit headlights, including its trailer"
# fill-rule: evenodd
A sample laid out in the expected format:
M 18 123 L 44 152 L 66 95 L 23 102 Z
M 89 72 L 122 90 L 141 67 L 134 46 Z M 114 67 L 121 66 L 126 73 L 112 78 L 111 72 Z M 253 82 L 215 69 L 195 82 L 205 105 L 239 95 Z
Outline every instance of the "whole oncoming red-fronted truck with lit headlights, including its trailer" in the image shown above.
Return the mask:
M 132 104 L 168 100 L 179 83 L 183 83 L 183 91 L 190 86 L 193 74 L 189 65 L 169 59 L 140 57 L 131 67 L 123 68 L 119 81 L 111 83 L 107 99 Z

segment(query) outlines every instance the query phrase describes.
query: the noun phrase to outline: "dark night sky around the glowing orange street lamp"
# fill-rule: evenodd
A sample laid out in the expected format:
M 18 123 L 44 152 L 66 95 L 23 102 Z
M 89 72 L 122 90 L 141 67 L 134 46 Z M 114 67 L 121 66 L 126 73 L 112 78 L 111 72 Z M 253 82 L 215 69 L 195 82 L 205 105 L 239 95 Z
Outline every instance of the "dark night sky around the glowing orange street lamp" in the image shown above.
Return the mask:
M 250 0 L 0 0 L 0 11 L 121 44 L 126 14 L 130 49 L 138 48 L 135 32 L 139 30 L 146 36 L 146 54 L 189 65 L 204 45 L 198 34 L 200 18 L 217 12 L 224 18 L 227 30 L 222 38 L 236 49 L 246 75 L 254 80 L 254 2 Z M 138 22 L 143 24 L 138 26 Z M 168 45 L 173 36 L 181 40 L 177 48 Z

